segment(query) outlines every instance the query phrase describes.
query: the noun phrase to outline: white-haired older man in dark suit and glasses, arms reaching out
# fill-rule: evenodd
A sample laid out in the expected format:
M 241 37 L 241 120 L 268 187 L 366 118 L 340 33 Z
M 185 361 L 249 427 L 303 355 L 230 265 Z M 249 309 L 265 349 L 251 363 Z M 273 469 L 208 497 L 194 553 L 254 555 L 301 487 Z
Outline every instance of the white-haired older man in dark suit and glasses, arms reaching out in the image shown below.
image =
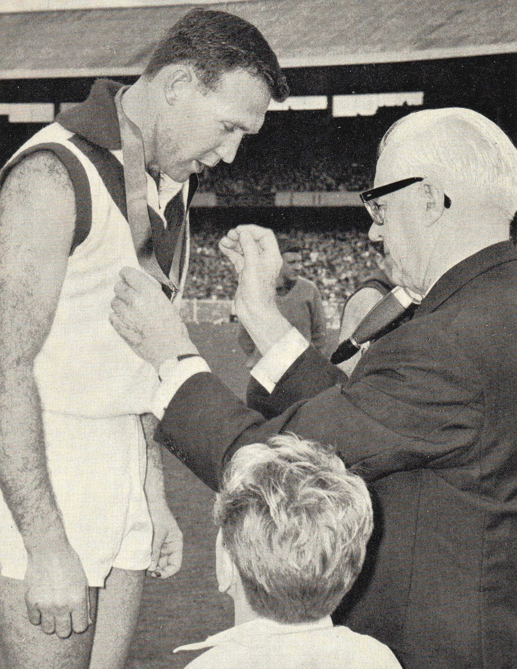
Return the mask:
M 517 666 L 517 150 L 484 116 L 426 110 L 381 142 L 363 194 L 391 280 L 421 300 L 350 379 L 276 308 L 280 253 L 243 226 L 237 313 L 264 355 L 266 421 L 220 383 L 159 288 L 123 270 L 112 322 L 159 368 L 156 438 L 217 487 L 232 454 L 278 432 L 336 444 L 369 481 L 375 533 L 334 617 L 406 669 Z M 185 359 L 185 355 L 189 355 Z

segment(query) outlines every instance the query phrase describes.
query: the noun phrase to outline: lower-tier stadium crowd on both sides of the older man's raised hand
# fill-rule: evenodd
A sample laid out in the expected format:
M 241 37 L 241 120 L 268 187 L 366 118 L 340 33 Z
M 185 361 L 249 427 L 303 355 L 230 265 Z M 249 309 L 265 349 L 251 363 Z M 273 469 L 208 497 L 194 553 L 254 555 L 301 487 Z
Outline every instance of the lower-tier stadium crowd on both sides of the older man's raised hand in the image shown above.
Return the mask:
M 192 235 L 185 298 L 233 298 L 237 278 L 231 262 L 217 248 L 220 237 L 213 232 Z M 302 248 L 300 276 L 314 281 L 324 300 L 344 302 L 377 268 L 381 258 L 367 235 L 356 231 L 291 230 L 279 234 L 278 239 L 289 239 Z

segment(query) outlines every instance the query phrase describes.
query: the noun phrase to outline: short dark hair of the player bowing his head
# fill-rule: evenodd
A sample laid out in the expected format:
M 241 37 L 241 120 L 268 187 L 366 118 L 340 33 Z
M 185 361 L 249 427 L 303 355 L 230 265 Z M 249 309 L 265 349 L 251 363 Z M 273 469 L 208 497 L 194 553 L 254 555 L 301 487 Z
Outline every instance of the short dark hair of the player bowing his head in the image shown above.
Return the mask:
M 262 77 L 277 102 L 289 95 L 286 77 L 264 35 L 251 23 L 225 11 L 189 11 L 159 43 L 144 74 L 152 77 L 176 62 L 190 63 L 199 80 L 211 90 L 223 72 L 242 68 Z

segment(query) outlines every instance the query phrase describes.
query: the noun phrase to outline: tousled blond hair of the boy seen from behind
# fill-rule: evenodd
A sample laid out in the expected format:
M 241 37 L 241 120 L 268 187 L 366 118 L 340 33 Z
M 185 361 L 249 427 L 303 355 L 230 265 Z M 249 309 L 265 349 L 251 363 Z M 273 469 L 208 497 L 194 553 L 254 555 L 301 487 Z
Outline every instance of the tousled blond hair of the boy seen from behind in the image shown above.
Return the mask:
M 235 453 L 214 516 L 251 608 L 290 623 L 336 608 L 373 530 L 365 482 L 332 448 L 294 435 Z

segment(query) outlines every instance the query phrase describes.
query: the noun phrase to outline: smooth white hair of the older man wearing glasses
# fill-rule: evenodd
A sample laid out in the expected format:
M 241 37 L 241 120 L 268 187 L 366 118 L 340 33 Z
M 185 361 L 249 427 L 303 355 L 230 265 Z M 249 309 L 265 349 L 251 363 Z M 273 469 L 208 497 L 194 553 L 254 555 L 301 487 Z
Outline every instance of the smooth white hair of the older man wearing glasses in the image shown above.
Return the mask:
M 395 122 L 379 145 L 379 158 L 395 142 L 407 147 L 407 164 L 421 175 L 433 171 L 461 185 L 476 202 L 484 201 L 511 219 L 517 210 L 517 149 L 490 119 L 472 109 L 449 107 L 408 114 Z

